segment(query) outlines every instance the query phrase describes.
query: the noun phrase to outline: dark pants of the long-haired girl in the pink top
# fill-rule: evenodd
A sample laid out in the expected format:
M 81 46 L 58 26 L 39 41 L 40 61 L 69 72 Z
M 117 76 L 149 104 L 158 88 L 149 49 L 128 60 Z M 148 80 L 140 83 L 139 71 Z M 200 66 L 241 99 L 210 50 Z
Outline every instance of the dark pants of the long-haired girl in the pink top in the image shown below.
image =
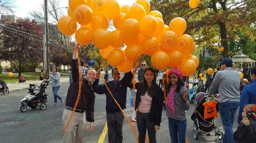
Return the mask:
M 157 143 L 154 122 L 150 122 L 149 113 L 141 113 L 137 111 L 136 121 L 140 143 L 145 143 L 146 129 L 148 130 L 149 143 Z

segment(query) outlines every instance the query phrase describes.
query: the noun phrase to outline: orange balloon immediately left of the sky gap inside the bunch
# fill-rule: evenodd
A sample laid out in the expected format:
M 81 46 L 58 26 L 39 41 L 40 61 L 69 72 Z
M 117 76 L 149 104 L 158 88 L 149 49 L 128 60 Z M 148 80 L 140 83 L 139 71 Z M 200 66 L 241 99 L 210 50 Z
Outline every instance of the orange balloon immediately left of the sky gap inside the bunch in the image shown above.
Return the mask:
M 90 25 L 93 31 L 95 31 L 98 28 L 107 29 L 108 19 L 104 15 L 95 16 L 93 17 Z

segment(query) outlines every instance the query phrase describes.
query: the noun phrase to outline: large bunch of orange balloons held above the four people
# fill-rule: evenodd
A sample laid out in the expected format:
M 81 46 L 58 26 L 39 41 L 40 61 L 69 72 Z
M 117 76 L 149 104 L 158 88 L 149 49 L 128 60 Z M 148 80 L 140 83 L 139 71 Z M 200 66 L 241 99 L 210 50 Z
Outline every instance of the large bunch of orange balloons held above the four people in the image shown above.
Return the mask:
M 111 32 L 107 31 L 110 20 L 116 28 Z M 69 0 L 68 15 L 58 20 L 58 29 L 65 35 L 76 33 L 81 45 L 93 42 L 101 56 L 123 72 L 131 70 L 142 54 L 151 56 L 155 68 L 177 67 L 184 75 L 194 73 L 199 65 L 191 55 L 195 42 L 184 34 L 186 21 L 175 17 L 165 25 L 160 11 L 151 11 L 148 0 L 122 7 L 116 0 Z

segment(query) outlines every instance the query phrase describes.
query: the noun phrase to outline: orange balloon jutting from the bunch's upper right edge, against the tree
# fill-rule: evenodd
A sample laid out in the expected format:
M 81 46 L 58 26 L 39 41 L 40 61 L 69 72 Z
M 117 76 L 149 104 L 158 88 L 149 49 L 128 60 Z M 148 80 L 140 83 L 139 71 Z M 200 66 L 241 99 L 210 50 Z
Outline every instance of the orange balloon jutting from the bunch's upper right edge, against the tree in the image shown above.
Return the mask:
M 169 24 L 170 30 L 180 36 L 186 31 L 186 21 L 181 17 L 175 17 Z

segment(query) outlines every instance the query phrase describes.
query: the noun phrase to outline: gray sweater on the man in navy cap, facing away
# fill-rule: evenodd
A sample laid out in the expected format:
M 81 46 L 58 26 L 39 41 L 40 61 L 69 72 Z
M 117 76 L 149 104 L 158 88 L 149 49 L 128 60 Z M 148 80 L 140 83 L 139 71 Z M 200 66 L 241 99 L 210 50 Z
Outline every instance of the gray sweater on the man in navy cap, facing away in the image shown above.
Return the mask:
M 232 67 L 218 71 L 209 89 L 212 95 L 217 89 L 220 95 L 220 103 L 226 101 L 240 102 L 240 74 Z

